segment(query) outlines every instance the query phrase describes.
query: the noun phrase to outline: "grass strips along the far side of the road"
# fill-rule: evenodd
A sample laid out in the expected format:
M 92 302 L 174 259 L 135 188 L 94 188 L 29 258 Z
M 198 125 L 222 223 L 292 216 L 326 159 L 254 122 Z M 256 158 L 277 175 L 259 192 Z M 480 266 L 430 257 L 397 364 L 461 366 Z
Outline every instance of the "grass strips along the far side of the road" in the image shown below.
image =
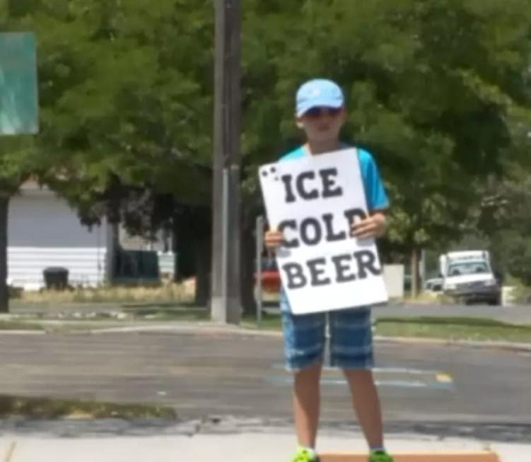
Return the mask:
M 86 320 L 100 321 L 109 320 L 116 316 L 105 313 L 91 313 L 91 308 L 97 308 L 98 300 L 108 302 L 122 300 L 119 311 L 125 314 L 122 320 L 142 321 L 207 321 L 210 318 L 209 311 L 204 307 L 194 307 L 190 303 L 191 295 L 185 295 L 187 288 L 184 285 L 168 284 L 158 288 L 100 288 L 83 289 L 74 292 L 41 292 L 28 293 L 29 300 L 40 304 L 49 304 L 50 308 L 57 309 L 61 305 L 66 307 L 69 303 L 80 309 L 78 314 L 62 315 L 66 319 L 75 318 L 83 322 L 83 310 L 86 309 Z M 431 295 L 432 296 L 432 295 Z M 33 297 L 33 299 L 31 298 Z M 187 302 L 177 302 L 177 299 L 185 298 Z M 20 300 L 22 304 L 28 304 L 26 300 Z M 67 299 L 65 302 L 64 299 Z M 81 300 L 84 300 L 82 302 Z M 151 301 L 148 301 L 151 300 Z M 75 311 L 75 310 L 74 310 Z M 73 312 L 74 313 L 74 312 Z M 52 312 L 50 312 L 50 315 Z M 88 316 L 90 314 L 90 316 Z M 66 316 L 66 317 L 65 317 Z M 261 323 L 257 324 L 255 314 L 244 316 L 241 325 L 245 328 L 260 328 L 263 330 L 279 331 L 281 329 L 281 317 L 279 314 L 265 313 Z M 28 319 L 0 319 L 0 329 L 40 329 L 43 327 L 34 320 Z M 387 317 L 380 318 L 375 324 L 375 334 L 379 336 L 394 337 L 420 337 L 420 338 L 443 338 L 446 340 L 505 340 L 513 342 L 531 343 L 531 326 L 513 326 L 491 319 L 478 319 L 468 317 Z

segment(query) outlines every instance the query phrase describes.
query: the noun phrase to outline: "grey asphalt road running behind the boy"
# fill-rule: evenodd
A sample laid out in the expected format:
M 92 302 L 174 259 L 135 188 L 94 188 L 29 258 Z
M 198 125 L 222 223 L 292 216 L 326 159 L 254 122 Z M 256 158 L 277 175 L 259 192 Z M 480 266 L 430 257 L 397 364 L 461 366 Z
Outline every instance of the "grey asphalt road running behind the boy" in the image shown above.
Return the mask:
M 531 438 L 531 353 L 391 343 L 376 350 L 388 427 Z M 165 403 L 183 421 L 291 421 L 277 336 L 1 335 L 0 377 L 0 393 Z M 337 371 L 325 371 L 322 390 L 323 425 L 351 425 Z

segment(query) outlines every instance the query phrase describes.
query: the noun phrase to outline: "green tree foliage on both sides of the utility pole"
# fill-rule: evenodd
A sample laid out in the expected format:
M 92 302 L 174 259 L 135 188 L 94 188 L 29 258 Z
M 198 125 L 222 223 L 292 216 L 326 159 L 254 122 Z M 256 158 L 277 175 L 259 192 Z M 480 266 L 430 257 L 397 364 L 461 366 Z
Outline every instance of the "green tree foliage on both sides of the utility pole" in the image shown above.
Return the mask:
M 45 166 L 35 165 L 47 182 L 88 221 L 110 204 L 149 215 L 129 213 L 139 232 L 165 223 L 176 204 L 209 204 L 211 1 L 8 6 L 1 22 L 39 40 Z M 242 8 L 247 213 L 261 206 L 257 166 L 300 143 L 293 95 L 314 76 L 346 92 L 344 138 L 378 160 L 392 199 L 388 244 L 399 251 L 459 239 L 486 177 L 529 169 L 529 1 L 245 0 Z M 144 190 L 148 206 L 137 206 Z

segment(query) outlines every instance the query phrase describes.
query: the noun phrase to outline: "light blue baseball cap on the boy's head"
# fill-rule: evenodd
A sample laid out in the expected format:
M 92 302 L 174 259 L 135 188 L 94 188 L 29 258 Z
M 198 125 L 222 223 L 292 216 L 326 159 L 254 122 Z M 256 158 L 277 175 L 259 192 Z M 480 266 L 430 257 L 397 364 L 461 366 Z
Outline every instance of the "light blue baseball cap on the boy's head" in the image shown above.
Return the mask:
M 303 83 L 297 90 L 297 116 L 300 117 L 312 107 L 342 107 L 344 96 L 337 83 L 326 78 L 315 78 Z

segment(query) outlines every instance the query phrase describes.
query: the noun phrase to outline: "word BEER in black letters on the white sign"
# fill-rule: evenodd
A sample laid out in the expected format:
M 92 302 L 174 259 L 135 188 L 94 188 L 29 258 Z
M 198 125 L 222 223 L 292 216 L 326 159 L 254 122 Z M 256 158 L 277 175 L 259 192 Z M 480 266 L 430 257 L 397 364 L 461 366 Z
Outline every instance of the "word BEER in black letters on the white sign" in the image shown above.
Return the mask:
M 318 258 L 299 263 L 285 263 L 281 266 L 286 274 L 289 289 L 302 289 L 329 285 L 332 283 L 348 283 L 353 280 L 379 276 L 376 255 L 369 250 L 355 251 L 353 254 L 340 254 L 330 259 Z

